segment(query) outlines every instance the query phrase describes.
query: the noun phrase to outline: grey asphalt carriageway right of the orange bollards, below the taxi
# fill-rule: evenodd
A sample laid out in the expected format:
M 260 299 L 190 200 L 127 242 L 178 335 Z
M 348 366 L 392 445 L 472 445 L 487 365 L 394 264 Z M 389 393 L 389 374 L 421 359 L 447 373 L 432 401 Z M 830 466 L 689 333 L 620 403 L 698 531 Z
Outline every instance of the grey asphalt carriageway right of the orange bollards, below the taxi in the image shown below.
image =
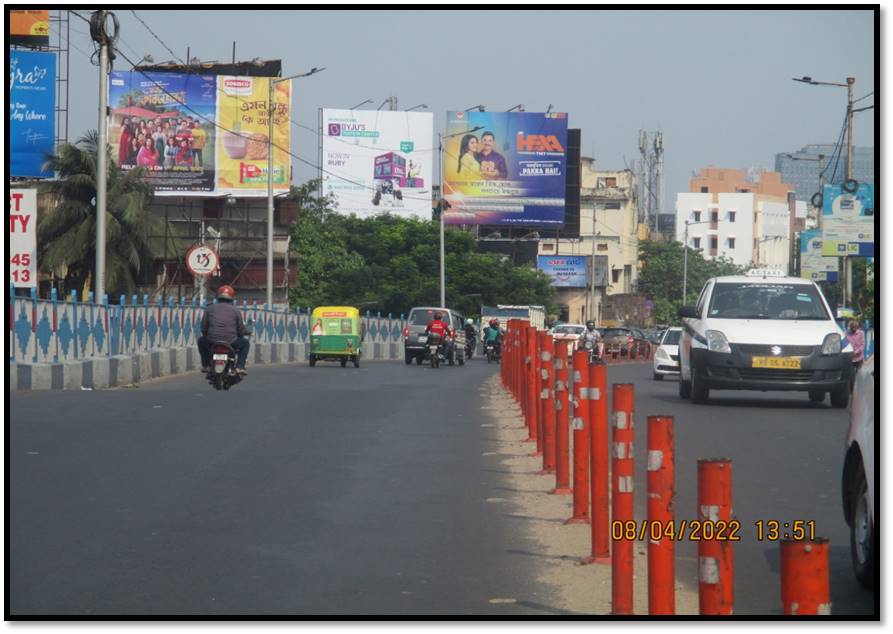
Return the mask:
M 814 520 L 830 540 L 832 613 L 870 615 L 874 595 L 853 574 L 841 471 L 849 410 L 811 403 L 804 392 L 711 391 L 705 405 L 679 398 L 678 380 L 652 379 L 648 364 L 609 367 L 608 383 L 635 385 L 636 519 L 646 517 L 647 417 L 674 417 L 676 519 L 696 519 L 699 458 L 732 461 L 735 614 L 780 614 L 779 544 L 757 541 L 758 520 Z M 676 575 L 697 587 L 697 544 L 677 544 Z

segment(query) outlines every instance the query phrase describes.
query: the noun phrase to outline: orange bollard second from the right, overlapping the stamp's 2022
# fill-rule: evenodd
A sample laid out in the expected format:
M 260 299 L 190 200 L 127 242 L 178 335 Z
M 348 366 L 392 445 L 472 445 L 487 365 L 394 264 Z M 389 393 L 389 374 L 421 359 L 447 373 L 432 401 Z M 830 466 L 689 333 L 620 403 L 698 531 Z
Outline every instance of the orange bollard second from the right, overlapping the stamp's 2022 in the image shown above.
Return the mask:
M 698 519 L 716 535 L 732 519 L 732 462 L 725 458 L 698 460 Z M 707 529 L 704 529 L 707 530 Z M 702 535 L 703 537 L 703 535 Z M 700 614 L 730 615 L 735 584 L 732 542 L 698 542 L 698 603 Z

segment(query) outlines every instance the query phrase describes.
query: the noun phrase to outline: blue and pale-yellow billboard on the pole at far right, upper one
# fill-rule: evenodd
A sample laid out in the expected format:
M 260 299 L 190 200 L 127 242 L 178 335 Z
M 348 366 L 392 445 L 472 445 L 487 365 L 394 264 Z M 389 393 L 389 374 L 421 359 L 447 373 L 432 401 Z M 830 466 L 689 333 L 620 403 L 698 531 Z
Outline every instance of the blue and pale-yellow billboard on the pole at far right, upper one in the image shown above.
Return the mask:
M 874 257 L 874 185 L 825 185 L 822 200 L 822 255 Z

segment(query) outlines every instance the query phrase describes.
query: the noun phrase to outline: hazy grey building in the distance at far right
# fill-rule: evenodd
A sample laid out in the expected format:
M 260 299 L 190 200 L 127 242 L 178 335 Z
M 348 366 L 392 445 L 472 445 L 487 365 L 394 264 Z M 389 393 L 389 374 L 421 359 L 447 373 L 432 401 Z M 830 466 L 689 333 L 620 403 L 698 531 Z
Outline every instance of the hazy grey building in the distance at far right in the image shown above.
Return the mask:
M 779 152 L 775 155 L 775 171 L 781 174 L 785 183 L 793 185 L 797 200 L 808 201 L 819 191 L 820 154 L 824 157 L 825 183 L 839 185 L 846 180 L 846 145 L 841 148 L 840 158 L 836 160 L 835 147 L 829 144 L 812 144 L 796 152 Z M 873 147 L 853 148 L 853 178 L 860 183 L 874 185 Z

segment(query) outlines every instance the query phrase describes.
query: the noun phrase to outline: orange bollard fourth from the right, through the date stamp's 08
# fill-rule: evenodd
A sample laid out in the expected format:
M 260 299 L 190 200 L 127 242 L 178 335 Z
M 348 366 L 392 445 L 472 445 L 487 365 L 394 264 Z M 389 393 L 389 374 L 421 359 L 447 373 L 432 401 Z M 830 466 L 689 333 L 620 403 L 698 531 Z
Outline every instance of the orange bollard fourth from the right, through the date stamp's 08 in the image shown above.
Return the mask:
M 613 548 L 611 553 L 611 614 L 633 613 L 633 541 L 638 531 L 633 527 L 633 403 L 631 383 L 613 386 L 614 436 L 612 455 Z M 622 527 L 623 530 L 616 530 Z M 619 539 L 618 539 L 619 537 Z

